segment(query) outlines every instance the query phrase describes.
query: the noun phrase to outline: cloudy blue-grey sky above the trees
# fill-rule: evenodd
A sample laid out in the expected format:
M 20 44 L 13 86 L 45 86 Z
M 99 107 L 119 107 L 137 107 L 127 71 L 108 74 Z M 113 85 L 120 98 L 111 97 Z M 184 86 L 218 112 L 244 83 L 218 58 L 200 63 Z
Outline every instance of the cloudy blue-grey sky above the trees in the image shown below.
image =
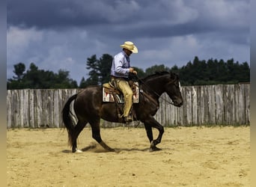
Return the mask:
M 234 58 L 250 63 L 249 0 L 8 0 L 7 78 L 13 65 L 88 78 L 87 58 L 114 56 L 130 40 L 131 64 L 182 67 Z

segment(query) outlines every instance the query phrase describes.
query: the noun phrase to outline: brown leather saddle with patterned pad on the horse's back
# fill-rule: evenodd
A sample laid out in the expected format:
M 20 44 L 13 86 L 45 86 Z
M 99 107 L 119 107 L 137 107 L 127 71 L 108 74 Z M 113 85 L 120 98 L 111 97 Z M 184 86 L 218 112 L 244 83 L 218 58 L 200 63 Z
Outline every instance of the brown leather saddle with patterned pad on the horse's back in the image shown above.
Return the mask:
M 139 91 L 138 82 L 129 82 L 132 88 L 132 102 L 138 103 Z M 111 82 L 103 84 L 103 102 L 118 102 L 124 103 L 124 94 L 112 85 Z

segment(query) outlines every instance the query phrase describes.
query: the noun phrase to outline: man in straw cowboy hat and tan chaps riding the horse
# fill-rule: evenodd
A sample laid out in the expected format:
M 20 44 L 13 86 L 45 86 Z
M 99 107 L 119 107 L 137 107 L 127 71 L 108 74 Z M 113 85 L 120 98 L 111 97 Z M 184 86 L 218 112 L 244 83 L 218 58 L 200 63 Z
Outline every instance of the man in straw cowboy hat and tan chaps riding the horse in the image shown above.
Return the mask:
M 129 111 L 132 107 L 132 89 L 129 87 L 128 75 L 129 73 L 137 72 L 129 64 L 129 55 L 138 53 L 137 47 L 130 41 L 126 41 L 121 45 L 122 52 L 119 52 L 112 61 L 111 67 L 111 82 L 115 82 L 115 86 L 124 94 L 124 120 L 126 122 L 132 121 Z

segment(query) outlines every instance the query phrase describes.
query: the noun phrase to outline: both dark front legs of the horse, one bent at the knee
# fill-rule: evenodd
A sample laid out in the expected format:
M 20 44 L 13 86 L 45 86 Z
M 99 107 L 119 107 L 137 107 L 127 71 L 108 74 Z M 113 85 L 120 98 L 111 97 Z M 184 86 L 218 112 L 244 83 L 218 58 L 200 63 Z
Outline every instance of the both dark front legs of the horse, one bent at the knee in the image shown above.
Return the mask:
M 144 126 L 147 131 L 147 138 L 150 141 L 150 151 L 160 150 L 158 147 L 156 147 L 156 145 L 162 141 L 162 135 L 165 132 L 164 127 L 160 123 L 158 123 L 153 117 L 150 117 L 149 120 L 146 120 L 144 122 Z M 159 131 L 159 135 L 155 140 L 153 140 L 152 127 L 158 129 Z

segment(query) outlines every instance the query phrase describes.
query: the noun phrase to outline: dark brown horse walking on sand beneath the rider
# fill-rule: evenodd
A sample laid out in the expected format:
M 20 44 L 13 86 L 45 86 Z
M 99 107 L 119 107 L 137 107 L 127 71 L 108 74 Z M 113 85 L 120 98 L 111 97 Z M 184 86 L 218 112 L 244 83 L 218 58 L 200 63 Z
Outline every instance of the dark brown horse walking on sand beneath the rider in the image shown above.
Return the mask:
M 183 105 L 183 97 L 180 93 L 180 81 L 176 73 L 162 71 L 138 79 L 139 82 L 139 102 L 133 103 L 133 120 L 144 123 L 147 138 L 150 142 L 150 151 L 160 150 L 156 147 L 162 140 L 164 127 L 154 119 L 156 111 L 159 109 L 159 98 L 162 93 L 167 93 L 171 98 L 171 104 L 177 107 Z M 73 102 L 74 101 L 74 102 Z M 73 113 L 70 111 L 70 104 L 73 102 L 77 123 L 73 120 Z M 123 107 L 122 104 L 118 104 Z M 90 123 L 92 138 L 94 138 L 106 151 L 115 151 L 109 147 L 100 136 L 100 119 L 109 122 L 120 122 L 116 103 L 103 102 L 103 87 L 89 86 L 82 91 L 70 96 L 62 109 L 62 120 L 68 133 L 68 142 L 72 147 L 72 152 L 78 152 L 76 139 L 87 123 Z M 123 121 L 123 123 L 125 123 Z M 156 139 L 153 139 L 152 128 L 159 131 Z

